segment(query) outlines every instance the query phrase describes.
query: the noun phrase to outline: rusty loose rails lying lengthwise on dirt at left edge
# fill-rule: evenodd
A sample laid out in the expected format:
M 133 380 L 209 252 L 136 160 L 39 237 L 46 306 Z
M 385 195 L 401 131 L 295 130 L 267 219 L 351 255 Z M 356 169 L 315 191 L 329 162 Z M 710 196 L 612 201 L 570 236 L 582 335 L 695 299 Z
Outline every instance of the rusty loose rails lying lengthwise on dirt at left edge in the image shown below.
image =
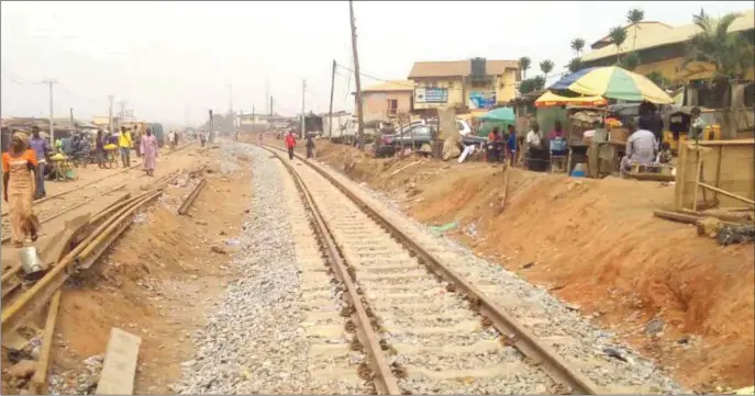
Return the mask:
M 15 330 L 26 318 L 42 308 L 63 286 L 78 265 L 91 265 L 104 250 L 131 225 L 131 215 L 163 193 L 162 189 L 147 191 L 132 200 L 118 214 L 108 218 L 81 244 L 58 261 L 40 281 L 2 310 L 2 336 Z

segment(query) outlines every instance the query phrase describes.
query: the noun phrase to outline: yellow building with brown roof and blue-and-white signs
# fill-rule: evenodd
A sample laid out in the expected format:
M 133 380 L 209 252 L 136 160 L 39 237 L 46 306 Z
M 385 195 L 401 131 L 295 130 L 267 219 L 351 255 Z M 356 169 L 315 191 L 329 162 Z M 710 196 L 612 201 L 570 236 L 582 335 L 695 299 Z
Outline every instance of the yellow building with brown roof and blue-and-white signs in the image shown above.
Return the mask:
M 517 97 L 521 81 L 518 60 L 418 61 L 409 79 L 414 81 L 414 111 L 453 106 L 457 113 L 491 109 Z

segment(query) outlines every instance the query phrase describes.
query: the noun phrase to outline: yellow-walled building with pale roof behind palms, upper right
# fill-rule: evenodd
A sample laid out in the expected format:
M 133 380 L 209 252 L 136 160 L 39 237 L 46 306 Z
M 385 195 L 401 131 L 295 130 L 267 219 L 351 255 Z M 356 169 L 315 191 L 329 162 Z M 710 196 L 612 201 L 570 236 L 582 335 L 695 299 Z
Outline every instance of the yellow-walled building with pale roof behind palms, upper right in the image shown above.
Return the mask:
M 755 11 L 741 12 L 741 16 L 731 25 L 730 32 L 753 34 L 754 19 Z M 626 41 L 619 48 L 619 56 L 629 54 L 634 48 L 641 60 L 640 66 L 634 69 L 635 72 L 647 75 L 657 71 L 671 82 L 688 82 L 713 76 L 712 65 L 693 63 L 685 67 L 687 43 L 700 31 L 695 24 L 675 27 L 648 21 L 641 22 L 637 26 L 626 26 L 624 30 Z M 611 66 L 617 63 L 617 46 L 611 44 L 608 36 L 600 38 L 590 47 L 593 50 L 581 58 L 585 67 Z M 746 78 L 753 79 L 752 69 Z

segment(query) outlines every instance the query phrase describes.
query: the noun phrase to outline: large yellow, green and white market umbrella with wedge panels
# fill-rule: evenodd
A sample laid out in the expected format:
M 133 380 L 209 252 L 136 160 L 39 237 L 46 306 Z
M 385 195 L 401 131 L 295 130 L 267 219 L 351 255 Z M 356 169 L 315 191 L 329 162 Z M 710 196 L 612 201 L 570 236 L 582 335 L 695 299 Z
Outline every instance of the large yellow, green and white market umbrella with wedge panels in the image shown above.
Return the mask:
M 653 81 L 618 66 L 582 69 L 562 78 L 548 89 L 633 102 L 674 103 L 674 99 Z

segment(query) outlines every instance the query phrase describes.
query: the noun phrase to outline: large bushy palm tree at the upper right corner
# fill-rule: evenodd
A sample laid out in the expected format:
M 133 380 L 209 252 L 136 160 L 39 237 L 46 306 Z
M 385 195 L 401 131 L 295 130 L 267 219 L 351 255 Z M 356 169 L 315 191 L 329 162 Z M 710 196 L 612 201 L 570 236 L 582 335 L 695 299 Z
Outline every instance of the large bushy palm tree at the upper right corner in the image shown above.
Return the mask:
M 700 10 L 692 21 L 700 30 L 689 41 L 689 54 L 685 67 L 692 61 L 713 65 L 717 78 L 743 78 L 753 64 L 753 45 L 740 32 L 729 32 L 739 13 L 728 13 L 715 19 Z

